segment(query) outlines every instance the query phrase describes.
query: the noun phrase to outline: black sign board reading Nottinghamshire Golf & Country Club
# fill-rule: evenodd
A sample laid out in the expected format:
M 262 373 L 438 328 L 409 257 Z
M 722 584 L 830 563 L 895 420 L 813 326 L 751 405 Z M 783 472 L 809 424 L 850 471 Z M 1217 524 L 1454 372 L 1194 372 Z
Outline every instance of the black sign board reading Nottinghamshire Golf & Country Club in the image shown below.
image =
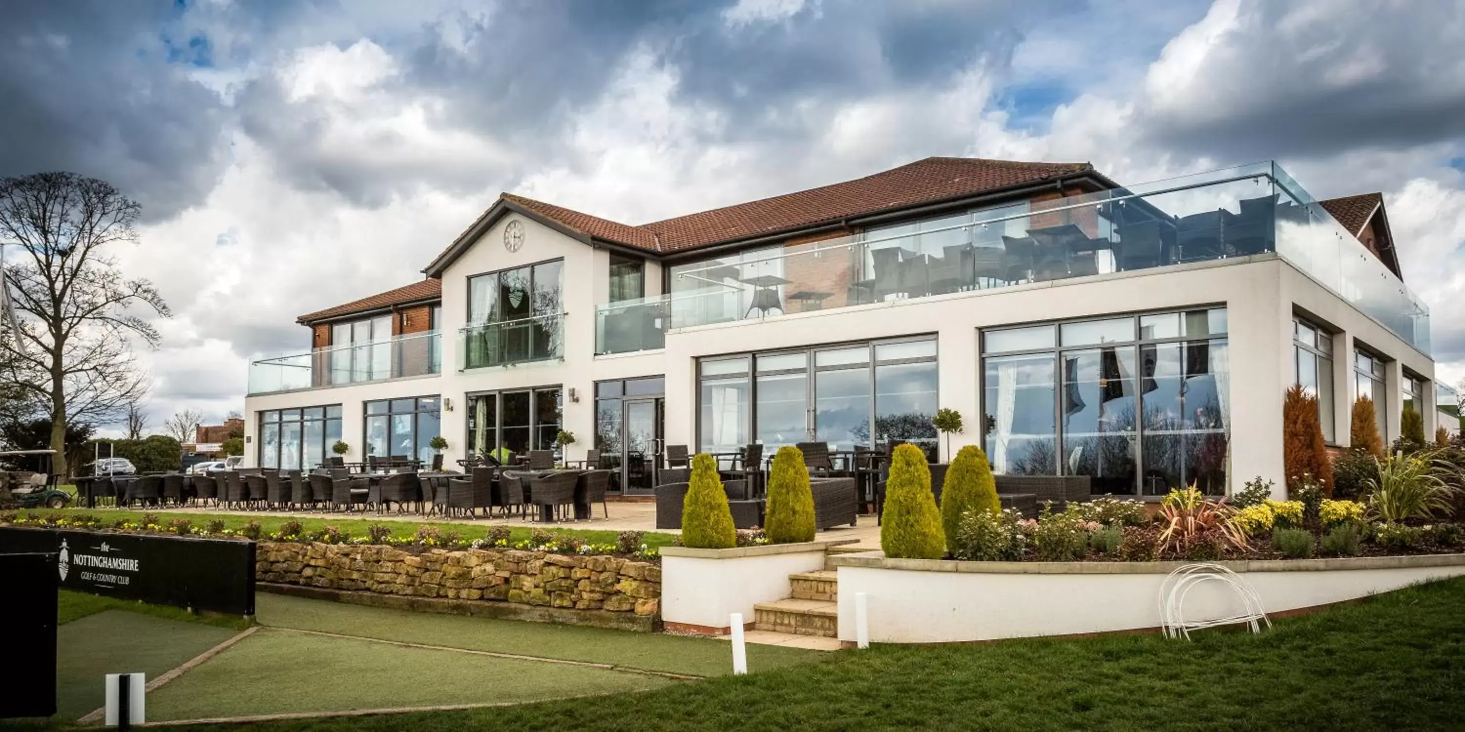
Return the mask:
M 60 589 L 229 615 L 255 613 L 255 543 L 0 527 L 0 553 L 47 552 Z

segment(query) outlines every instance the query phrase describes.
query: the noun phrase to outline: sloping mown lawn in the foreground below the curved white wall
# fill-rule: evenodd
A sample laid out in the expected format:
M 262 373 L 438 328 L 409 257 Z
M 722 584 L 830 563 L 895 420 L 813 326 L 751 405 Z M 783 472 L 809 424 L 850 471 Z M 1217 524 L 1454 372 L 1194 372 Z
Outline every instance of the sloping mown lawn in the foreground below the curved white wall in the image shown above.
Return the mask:
M 234 728 L 335 731 L 1461 729 L 1465 580 L 1209 631 L 841 651 L 643 694 Z M 199 729 L 199 728 L 190 728 Z

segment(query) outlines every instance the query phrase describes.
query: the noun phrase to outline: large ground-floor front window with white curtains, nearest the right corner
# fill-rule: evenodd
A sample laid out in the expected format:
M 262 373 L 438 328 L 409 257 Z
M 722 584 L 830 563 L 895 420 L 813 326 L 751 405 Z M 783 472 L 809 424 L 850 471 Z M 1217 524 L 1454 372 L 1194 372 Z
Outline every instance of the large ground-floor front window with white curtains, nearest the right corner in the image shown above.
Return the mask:
M 1226 489 L 1226 310 L 983 332 L 983 430 L 1004 474 L 1090 476 L 1094 493 Z

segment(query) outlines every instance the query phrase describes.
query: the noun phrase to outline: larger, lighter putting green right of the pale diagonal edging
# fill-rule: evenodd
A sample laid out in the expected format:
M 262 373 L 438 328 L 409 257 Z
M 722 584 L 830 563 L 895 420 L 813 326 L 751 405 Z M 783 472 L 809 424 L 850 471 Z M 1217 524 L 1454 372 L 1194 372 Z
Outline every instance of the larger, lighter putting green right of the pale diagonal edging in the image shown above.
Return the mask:
M 261 628 L 154 691 L 148 720 L 519 703 L 667 684 L 592 666 Z

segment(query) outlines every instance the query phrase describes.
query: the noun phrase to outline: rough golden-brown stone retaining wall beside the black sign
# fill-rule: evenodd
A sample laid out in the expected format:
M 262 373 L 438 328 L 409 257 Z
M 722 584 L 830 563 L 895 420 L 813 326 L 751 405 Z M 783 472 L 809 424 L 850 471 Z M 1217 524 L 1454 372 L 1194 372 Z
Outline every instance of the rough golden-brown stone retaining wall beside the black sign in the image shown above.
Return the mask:
M 519 606 L 527 619 L 545 619 L 544 609 L 585 610 L 548 618 L 589 625 L 626 625 L 596 615 L 652 622 L 661 615 L 661 567 L 618 556 L 259 542 L 256 559 L 261 583 Z

